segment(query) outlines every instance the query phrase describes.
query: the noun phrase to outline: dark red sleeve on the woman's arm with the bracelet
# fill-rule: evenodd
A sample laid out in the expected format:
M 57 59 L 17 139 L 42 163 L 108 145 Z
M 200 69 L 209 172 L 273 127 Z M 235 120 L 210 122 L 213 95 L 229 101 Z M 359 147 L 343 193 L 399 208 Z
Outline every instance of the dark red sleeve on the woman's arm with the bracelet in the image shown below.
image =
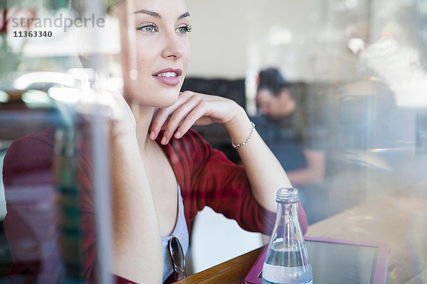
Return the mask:
M 185 152 L 191 163 L 191 198 L 197 208 L 205 205 L 235 219 L 247 231 L 270 234 L 275 213 L 264 209 L 252 195 L 245 168 L 232 163 L 221 151 L 211 148 L 195 131 L 186 133 Z M 302 231 L 307 231 L 307 218 L 300 204 Z

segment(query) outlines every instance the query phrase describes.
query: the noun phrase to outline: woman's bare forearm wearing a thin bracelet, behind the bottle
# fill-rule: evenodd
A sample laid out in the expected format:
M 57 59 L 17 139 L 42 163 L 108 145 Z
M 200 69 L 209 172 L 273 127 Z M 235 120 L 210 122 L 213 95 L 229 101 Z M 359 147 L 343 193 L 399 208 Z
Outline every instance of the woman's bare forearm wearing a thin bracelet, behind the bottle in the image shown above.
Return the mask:
M 246 141 L 252 127 L 251 121 L 241 107 L 237 108 L 235 119 L 224 126 L 236 144 Z M 238 153 L 245 165 L 255 200 L 265 209 L 275 212 L 277 206 L 275 192 L 280 187 L 292 187 L 282 165 L 257 131 L 246 145 L 238 148 Z

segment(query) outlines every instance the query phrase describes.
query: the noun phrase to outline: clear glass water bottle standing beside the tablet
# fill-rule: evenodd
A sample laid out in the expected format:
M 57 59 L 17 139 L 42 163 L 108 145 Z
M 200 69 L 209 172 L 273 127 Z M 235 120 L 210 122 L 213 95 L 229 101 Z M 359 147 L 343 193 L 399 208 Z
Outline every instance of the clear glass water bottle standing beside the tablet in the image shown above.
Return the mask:
M 278 214 L 263 266 L 263 284 L 312 284 L 312 268 L 298 220 L 298 190 L 280 188 Z

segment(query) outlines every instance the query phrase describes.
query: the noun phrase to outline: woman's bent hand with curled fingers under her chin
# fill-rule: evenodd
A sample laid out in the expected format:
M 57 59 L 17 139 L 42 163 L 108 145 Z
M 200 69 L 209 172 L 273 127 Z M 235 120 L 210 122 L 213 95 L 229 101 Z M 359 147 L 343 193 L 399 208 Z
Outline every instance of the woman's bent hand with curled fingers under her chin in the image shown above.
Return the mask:
M 233 124 L 236 115 L 241 114 L 241 110 L 243 108 L 231 99 L 190 91 L 182 92 L 175 104 L 158 109 L 154 114 L 149 138 L 156 139 L 159 131 L 164 130 L 161 143 L 167 144 L 173 135 L 175 138 L 181 138 L 193 125 L 218 123 L 228 128 Z

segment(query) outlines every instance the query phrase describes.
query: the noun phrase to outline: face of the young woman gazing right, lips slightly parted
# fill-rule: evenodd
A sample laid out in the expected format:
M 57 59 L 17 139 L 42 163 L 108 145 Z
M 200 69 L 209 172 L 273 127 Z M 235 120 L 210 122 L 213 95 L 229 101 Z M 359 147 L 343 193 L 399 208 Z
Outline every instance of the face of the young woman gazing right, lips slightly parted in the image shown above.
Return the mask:
M 169 107 L 178 98 L 189 65 L 186 2 L 135 0 L 133 7 L 130 3 L 124 1 L 113 11 L 122 24 L 125 95 L 144 106 Z

